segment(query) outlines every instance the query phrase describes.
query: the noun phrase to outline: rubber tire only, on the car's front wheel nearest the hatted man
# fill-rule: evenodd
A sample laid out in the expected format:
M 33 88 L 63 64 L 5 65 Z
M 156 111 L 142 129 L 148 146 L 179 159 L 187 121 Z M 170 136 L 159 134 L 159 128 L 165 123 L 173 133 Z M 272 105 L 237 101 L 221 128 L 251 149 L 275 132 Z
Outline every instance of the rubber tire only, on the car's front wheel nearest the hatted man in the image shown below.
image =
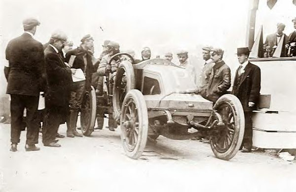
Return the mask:
M 230 103 L 235 110 L 234 115 L 236 116 L 237 122 L 235 126 L 236 131 L 234 134 L 234 138 L 233 138 L 233 141 L 231 142 L 230 147 L 224 153 L 220 153 L 215 149 L 212 139 L 210 141 L 210 144 L 211 144 L 212 151 L 217 158 L 222 160 L 230 160 L 236 155 L 236 153 L 238 152 L 242 144 L 244 131 L 245 131 L 245 115 L 244 115 L 242 104 L 239 101 L 239 99 L 236 96 L 230 95 L 230 94 L 222 95 L 214 105 L 214 110 L 218 109 L 218 106 L 220 106 L 223 102 Z

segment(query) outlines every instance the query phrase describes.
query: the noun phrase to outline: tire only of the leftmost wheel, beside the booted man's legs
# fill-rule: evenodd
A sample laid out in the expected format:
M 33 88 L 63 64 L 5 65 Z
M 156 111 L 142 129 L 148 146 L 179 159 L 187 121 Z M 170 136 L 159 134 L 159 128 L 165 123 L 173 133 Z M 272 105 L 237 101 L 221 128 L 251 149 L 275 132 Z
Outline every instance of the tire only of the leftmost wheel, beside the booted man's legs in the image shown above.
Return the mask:
M 96 100 L 96 92 L 95 92 L 95 88 L 93 86 L 91 86 L 91 90 L 89 92 L 89 98 L 90 98 L 90 121 L 87 124 L 86 129 L 83 129 L 83 122 L 84 120 L 83 115 L 80 114 L 80 126 L 81 126 L 81 132 L 84 136 L 89 137 L 92 132 L 94 131 L 94 126 L 95 126 L 95 122 L 96 122 L 96 111 L 97 111 L 97 100 Z M 81 111 L 82 113 L 82 111 Z

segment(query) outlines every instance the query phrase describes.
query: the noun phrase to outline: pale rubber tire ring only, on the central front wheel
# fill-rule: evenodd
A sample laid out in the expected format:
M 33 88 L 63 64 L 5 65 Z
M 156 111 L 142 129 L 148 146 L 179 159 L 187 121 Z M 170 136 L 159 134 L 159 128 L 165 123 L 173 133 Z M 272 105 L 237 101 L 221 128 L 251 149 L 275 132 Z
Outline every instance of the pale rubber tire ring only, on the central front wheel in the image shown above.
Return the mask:
M 132 159 L 139 159 L 146 147 L 146 143 L 148 139 L 148 110 L 147 110 L 147 106 L 146 106 L 146 102 L 143 94 L 137 89 L 132 89 L 126 94 L 124 98 L 122 111 L 124 111 L 124 108 L 125 108 L 124 104 L 126 104 L 130 99 L 133 99 L 135 101 L 135 104 L 138 110 L 138 119 L 139 119 L 139 135 L 138 135 L 138 140 L 137 140 L 135 149 L 133 151 L 128 151 L 125 147 L 123 125 L 122 125 L 122 119 L 124 116 L 123 113 L 121 113 L 120 115 L 120 129 L 121 129 L 120 136 L 121 136 L 121 142 L 122 142 L 122 146 L 125 154 Z

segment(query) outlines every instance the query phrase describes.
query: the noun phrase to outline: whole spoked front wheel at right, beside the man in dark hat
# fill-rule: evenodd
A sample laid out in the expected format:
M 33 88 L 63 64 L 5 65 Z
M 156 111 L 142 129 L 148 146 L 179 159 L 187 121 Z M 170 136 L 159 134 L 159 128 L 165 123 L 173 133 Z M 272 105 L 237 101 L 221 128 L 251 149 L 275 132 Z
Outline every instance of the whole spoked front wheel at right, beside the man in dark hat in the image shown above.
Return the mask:
M 219 159 L 230 160 L 239 150 L 244 137 L 245 117 L 243 107 L 234 95 L 222 95 L 214 106 L 217 115 L 211 148 Z

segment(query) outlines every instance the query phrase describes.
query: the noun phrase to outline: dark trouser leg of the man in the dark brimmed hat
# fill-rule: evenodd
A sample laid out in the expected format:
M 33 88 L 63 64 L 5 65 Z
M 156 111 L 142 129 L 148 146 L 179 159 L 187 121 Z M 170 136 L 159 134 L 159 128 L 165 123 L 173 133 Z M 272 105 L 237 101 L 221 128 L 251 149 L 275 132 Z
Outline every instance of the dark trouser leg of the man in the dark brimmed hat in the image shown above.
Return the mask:
M 253 145 L 253 121 L 252 111 L 245 111 L 245 134 L 243 139 L 243 146 L 246 149 L 252 149 Z

